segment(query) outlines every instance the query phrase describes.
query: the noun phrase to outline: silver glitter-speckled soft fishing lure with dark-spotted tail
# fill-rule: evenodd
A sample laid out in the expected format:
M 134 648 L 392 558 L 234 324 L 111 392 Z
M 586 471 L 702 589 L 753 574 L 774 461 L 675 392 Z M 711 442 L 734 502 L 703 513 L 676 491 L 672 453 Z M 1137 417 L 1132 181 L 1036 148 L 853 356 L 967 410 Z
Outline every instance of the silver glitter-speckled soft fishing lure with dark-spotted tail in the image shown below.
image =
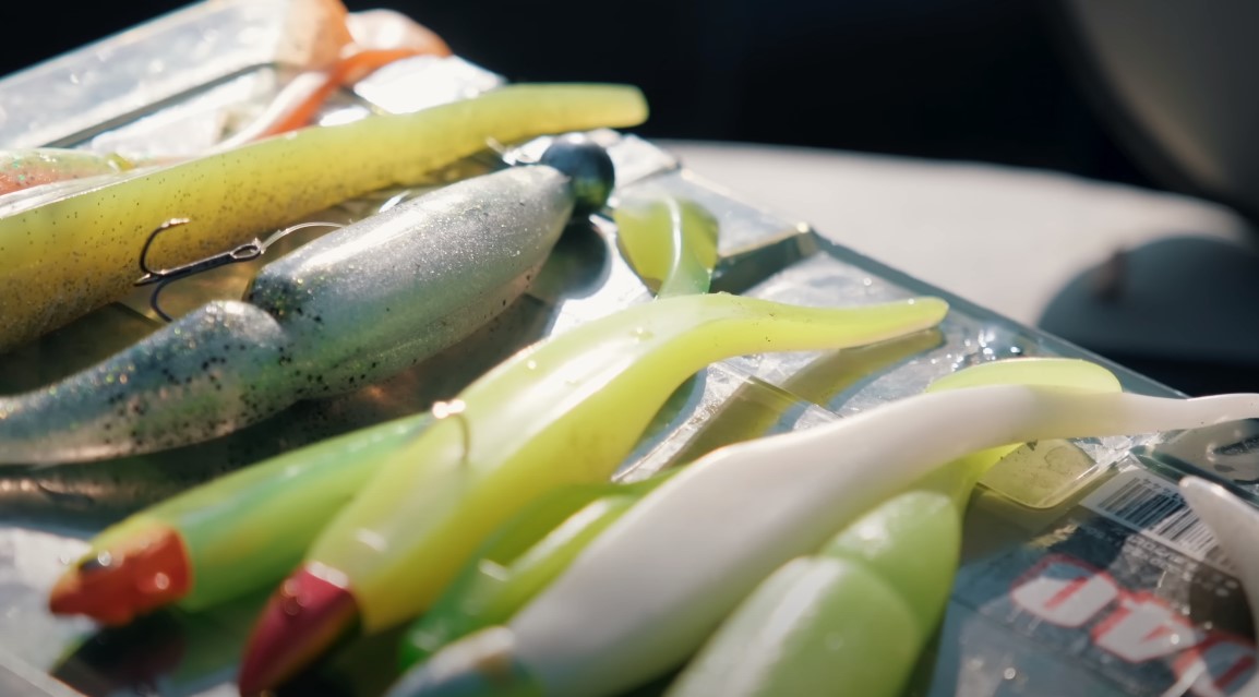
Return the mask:
M 263 267 L 244 302 L 208 303 L 60 382 L 0 398 L 0 460 L 196 443 L 414 365 L 525 291 L 574 210 L 588 159 L 611 172 L 602 148 L 560 140 L 544 164 L 360 220 Z

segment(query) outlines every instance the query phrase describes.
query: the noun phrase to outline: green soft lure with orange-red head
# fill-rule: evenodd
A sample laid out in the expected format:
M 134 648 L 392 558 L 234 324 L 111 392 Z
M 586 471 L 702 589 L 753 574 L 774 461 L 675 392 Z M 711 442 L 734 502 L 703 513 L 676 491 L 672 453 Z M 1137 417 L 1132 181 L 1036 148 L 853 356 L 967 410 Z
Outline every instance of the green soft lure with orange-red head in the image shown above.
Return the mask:
M 196 611 L 264 589 L 429 420 L 408 416 L 308 445 L 135 513 L 92 540 L 53 586 L 49 609 L 117 625 L 170 604 Z

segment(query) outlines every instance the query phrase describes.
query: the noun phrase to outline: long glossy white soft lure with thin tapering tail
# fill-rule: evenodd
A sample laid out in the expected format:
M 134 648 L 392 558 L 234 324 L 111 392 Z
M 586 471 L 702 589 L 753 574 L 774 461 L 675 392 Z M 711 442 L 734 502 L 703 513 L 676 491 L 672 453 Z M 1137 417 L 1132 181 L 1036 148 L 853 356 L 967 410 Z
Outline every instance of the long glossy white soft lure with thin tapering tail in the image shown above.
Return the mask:
M 1029 440 L 1255 416 L 1253 394 L 991 385 L 731 445 L 647 494 L 510 623 L 456 642 L 415 681 L 428 694 L 616 694 L 681 664 L 776 569 L 943 463 Z

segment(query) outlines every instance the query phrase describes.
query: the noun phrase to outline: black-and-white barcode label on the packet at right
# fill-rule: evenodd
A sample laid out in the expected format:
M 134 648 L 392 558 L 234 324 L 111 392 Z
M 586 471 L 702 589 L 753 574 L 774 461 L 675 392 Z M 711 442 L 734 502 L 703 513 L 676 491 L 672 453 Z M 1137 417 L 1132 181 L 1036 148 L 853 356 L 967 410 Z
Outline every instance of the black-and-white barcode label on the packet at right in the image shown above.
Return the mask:
M 1216 549 L 1215 535 L 1185 503 L 1176 484 L 1139 469 L 1098 487 L 1081 505 L 1094 513 L 1153 537 L 1190 559 L 1233 569 Z

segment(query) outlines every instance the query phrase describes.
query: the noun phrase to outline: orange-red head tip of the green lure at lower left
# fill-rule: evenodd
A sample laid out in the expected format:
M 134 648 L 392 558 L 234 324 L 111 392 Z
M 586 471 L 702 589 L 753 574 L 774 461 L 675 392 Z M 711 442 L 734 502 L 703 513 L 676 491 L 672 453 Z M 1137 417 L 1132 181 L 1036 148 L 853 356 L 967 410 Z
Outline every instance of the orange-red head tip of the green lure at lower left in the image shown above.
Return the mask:
M 184 598 L 191 581 L 183 538 L 154 526 L 83 557 L 58 579 L 48 606 L 120 625 Z

